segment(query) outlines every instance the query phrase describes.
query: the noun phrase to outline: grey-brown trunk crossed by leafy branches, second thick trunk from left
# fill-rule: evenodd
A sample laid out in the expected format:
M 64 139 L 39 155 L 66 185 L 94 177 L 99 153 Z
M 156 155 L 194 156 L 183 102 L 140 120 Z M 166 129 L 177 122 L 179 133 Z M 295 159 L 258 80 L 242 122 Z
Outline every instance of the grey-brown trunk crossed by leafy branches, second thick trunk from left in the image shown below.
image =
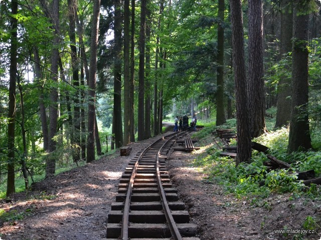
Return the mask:
M 58 82 L 58 59 L 59 59 L 59 0 L 53 0 L 52 3 L 52 20 L 54 24 L 55 34 L 53 40 L 53 49 L 51 55 L 51 79 L 53 82 Z M 55 87 L 51 89 L 49 105 L 49 151 L 53 152 L 56 149 L 56 141 L 53 137 L 57 133 L 57 117 L 58 117 L 58 91 Z M 56 158 L 49 156 L 46 159 L 46 177 L 55 173 Z

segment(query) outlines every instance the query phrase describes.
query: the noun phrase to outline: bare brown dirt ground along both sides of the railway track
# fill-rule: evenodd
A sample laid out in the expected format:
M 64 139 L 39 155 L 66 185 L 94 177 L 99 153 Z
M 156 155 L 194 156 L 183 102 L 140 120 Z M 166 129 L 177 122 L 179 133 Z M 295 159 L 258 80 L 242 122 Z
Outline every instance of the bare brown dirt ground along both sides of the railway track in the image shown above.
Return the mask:
M 38 182 L 28 195 L 16 193 L 11 203 L 0 202 L 0 209 L 17 213 L 16 219 L 0 222 L 0 239 L 104 239 L 122 172 L 136 152 L 156 138 L 131 143 L 129 156 L 119 156 L 118 150 Z M 320 239 L 320 233 L 273 233 L 285 225 L 301 229 L 306 216 L 320 217 L 320 202 L 289 201 L 290 194 L 273 194 L 261 207 L 253 207 L 226 195 L 221 185 L 206 181 L 206 174 L 191 166 L 201 151 L 172 152 L 167 163 L 201 240 Z

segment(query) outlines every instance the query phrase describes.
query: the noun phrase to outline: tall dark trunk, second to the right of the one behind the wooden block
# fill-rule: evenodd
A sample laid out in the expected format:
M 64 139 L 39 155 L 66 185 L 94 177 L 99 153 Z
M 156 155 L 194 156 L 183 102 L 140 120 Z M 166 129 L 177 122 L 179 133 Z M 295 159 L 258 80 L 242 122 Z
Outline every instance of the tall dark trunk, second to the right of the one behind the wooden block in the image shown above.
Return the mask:
M 138 141 L 145 139 L 144 95 L 145 95 L 145 20 L 146 0 L 140 1 L 139 71 L 138 71 Z

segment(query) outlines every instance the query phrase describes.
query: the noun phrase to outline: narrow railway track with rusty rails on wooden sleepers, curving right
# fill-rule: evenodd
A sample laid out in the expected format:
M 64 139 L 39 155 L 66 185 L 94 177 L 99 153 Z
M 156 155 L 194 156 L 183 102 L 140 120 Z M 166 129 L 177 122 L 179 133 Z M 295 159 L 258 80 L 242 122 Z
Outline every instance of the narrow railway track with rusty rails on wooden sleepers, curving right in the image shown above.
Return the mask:
M 175 138 L 186 133 L 166 135 L 130 160 L 108 213 L 108 240 L 199 240 L 165 167 Z

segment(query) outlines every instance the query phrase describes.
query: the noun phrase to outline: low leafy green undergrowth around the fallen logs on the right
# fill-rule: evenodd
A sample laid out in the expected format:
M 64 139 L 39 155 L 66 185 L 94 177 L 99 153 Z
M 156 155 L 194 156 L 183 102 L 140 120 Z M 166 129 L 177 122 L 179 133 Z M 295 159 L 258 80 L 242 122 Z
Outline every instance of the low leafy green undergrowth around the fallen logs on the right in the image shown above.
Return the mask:
M 212 130 L 215 130 L 215 126 L 212 126 L 210 131 Z M 204 129 L 204 132 L 200 131 L 196 135 L 202 137 L 208 132 L 209 130 Z M 268 160 L 267 157 L 255 150 L 252 151 L 250 163 L 236 166 L 234 159 L 219 156 L 221 149 L 216 144 L 212 144 L 206 153 L 198 156 L 193 165 L 202 167 L 208 173 L 208 180 L 221 184 L 227 193 L 234 193 L 238 198 L 250 198 L 252 204 L 260 202 L 264 206 L 264 201 L 261 200 L 272 192 L 292 192 L 292 197 L 304 194 L 310 198 L 319 198 L 320 187 L 314 184 L 306 187 L 302 181 L 297 180 L 295 172 L 314 169 L 316 176 L 321 175 L 321 151 L 287 154 L 287 128 L 270 131 L 254 141 L 268 146 L 270 154 L 290 163 L 292 168 L 267 171 L 267 167 L 263 165 L 263 161 Z

